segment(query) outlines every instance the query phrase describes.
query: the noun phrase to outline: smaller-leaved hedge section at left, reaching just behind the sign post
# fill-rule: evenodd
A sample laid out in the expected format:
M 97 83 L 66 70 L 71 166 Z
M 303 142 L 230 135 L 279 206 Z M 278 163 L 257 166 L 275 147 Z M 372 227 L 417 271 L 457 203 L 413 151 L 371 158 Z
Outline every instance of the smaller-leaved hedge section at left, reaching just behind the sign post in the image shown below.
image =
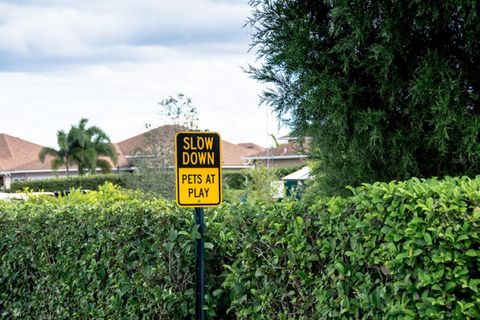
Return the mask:
M 112 185 L 59 199 L 0 202 L 0 317 L 191 319 L 192 221 L 191 210 L 138 200 Z M 214 317 L 224 303 L 213 295 L 221 285 L 214 267 L 223 263 L 212 258 L 221 254 L 208 236 L 206 243 L 207 307 Z

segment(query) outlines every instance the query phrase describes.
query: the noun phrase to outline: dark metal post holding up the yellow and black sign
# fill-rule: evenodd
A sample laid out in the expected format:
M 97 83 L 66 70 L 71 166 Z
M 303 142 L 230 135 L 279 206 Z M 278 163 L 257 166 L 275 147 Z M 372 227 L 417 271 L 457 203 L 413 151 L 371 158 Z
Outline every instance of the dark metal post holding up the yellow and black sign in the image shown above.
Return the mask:
M 200 238 L 195 239 L 195 319 L 205 320 L 205 240 L 203 208 L 195 208 L 195 225 L 198 226 Z

